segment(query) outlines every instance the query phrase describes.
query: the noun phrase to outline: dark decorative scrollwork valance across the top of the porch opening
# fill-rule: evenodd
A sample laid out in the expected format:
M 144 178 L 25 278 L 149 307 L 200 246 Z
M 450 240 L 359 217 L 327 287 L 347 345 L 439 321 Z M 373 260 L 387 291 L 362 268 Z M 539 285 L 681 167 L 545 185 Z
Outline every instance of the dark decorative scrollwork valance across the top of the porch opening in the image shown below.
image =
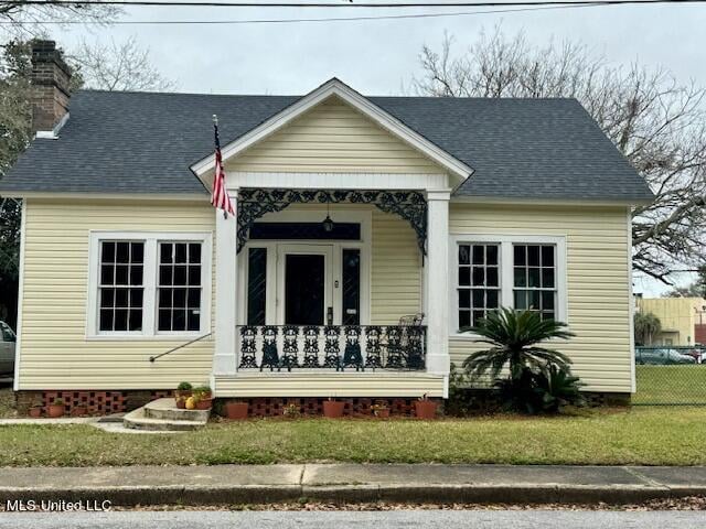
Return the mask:
M 409 223 L 417 235 L 422 256 L 427 255 L 427 201 L 418 191 L 359 190 L 264 190 L 238 191 L 237 239 L 239 252 L 247 241 L 250 227 L 267 213 L 281 212 L 291 204 L 372 204 L 385 213 L 398 215 Z

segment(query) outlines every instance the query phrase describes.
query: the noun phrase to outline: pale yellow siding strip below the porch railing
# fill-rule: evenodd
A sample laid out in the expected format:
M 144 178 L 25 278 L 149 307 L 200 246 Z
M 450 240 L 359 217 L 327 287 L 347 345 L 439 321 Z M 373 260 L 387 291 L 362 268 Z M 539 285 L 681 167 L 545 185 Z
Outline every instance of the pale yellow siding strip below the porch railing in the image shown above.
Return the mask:
M 216 378 L 220 397 L 443 396 L 443 377 L 426 374 L 264 374 Z

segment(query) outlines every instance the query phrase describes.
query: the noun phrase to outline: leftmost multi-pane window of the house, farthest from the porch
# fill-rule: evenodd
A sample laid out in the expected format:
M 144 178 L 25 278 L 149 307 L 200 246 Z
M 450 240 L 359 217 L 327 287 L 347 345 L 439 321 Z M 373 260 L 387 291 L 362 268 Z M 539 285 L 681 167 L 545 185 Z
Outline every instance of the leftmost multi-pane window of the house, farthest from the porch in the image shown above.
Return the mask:
M 98 330 L 142 330 L 145 242 L 103 241 L 98 283 Z

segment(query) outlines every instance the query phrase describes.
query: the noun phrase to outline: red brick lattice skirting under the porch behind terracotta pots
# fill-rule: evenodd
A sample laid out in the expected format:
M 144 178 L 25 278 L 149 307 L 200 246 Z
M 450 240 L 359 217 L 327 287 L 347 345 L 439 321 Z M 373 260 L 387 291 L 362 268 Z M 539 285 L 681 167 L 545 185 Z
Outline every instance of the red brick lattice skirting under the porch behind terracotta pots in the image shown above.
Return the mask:
M 217 399 L 220 404 L 235 399 Z M 322 415 L 323 402 L 328 400 L 319 397 L 261 397 L 237 399 L 238 402 L 248 402 L 248 417 L 282 417 L 286 408 L 292 407 L 301 415 Z M 339 398 L 345 402 L 344 417 L 371 417 L 371 407 L 384 402 L 389 408 L 391 417 L 414 417 L 416 398 Z M 441 399 L 430 399 L 442 402 Z M 221 411 L 222 406 L 216 406 Z

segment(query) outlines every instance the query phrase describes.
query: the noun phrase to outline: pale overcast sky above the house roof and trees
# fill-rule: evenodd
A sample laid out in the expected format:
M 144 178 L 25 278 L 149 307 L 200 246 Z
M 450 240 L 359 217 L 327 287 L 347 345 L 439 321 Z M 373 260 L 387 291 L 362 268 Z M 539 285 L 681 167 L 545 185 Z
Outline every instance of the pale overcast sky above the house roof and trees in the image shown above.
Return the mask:
M 343 0 L 332 0 L 341 3 Z M 448 11 L 479 11 L 452 8 Z M 404 13 L 439 12 L 438 9 Z M 400 10 L 138 8 L 121 20 L 243 20 L 402 14 Z M 663 66 L 680 79 L 706 85 L 706 7 L 620 6 L 485 13 L 437 19 L 238 25 L 114 25 L 53 29 L 71 50 L 81 37 L 122 41 L 135 35 L 149 46 L 161 73 L 178 91 L 303 94 L 340 77 L 366 95 L 397 95 L 418 73 L 422 44 L 438 45 L 448 31 L 463 50 L 485 29 L 524 31 L 528 41 L 582 41 L 614 63 Z M 659 285 L 638 278 L 637 291 Z

